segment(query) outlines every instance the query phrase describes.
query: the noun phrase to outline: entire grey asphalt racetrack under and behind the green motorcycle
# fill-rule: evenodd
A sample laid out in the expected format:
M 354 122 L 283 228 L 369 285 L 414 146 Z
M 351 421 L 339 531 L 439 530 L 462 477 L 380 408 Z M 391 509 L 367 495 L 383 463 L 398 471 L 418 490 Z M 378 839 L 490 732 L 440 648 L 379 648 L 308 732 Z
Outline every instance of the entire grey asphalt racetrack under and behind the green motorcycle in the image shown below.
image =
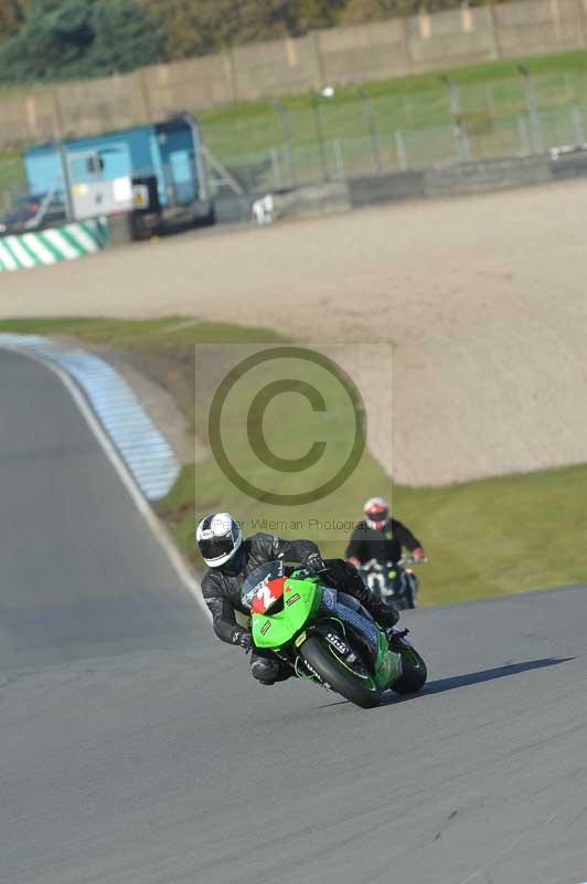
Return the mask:
M 2 884 L 581 884 L 586 588 L 405 618 L 364 712 L 215 641 L 67 391 L 0 354 Z

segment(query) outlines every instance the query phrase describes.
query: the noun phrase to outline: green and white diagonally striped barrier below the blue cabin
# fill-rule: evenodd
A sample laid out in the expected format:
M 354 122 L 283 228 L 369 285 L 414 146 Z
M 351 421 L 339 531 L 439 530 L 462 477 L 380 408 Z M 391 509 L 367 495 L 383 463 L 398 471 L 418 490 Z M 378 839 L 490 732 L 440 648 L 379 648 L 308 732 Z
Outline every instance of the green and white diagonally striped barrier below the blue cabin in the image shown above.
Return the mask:
M 30 270 L 40 264 L 75 261 L 104 249 L 108 240 L 105 220 L 65 224 L 35 233 L 0 236 L 0 272 Z

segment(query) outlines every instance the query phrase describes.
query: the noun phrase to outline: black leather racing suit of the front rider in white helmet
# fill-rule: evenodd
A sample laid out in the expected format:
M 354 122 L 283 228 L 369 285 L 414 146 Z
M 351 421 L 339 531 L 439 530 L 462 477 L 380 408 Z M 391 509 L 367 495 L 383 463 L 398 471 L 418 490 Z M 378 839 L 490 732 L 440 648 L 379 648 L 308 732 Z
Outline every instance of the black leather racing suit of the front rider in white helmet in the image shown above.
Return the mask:
M 241 549 L 231 561 L 220 568 L 211 568 L 202 580 L 202 594 L 212 613 L 214 632 L 224 642 L 236 644 L 239 634 L 248 632 L 246 627 L 236 621 L 235 612 L 244 617 L 249 611 L 241 601 L 241 590 L 248 575 L 275 559 L 300 562 L 310 552 L 319 552 L 312 540 L 284 540 L 270 534 L 254 534 L 243 541 Z M 353 596 L 370 610 L 382 625 L 393 625 L 397 621 L 395 609 L 381 604 L 371 596 L 356 568 L 342 559 L 327 559 L 328 567 L 324 581 Z M 289 677 L 291 671 L 280 661 L 263 650 L 254 650 L 250 659 L 254 677 L 263 684 L 274 684 Z

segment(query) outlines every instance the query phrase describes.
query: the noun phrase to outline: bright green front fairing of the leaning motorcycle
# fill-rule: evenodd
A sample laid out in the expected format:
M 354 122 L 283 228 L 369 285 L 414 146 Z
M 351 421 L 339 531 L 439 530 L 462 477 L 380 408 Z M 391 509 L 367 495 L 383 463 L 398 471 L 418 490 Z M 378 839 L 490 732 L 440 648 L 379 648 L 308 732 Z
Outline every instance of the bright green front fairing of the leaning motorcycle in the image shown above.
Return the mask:
M 284 587 L 284 609 L 275 614 L 253 614 L 253 641 L 256 648 L 277 649 L 290 642 L 303 629 L 322 600 L 316 581 L 289 578 Z

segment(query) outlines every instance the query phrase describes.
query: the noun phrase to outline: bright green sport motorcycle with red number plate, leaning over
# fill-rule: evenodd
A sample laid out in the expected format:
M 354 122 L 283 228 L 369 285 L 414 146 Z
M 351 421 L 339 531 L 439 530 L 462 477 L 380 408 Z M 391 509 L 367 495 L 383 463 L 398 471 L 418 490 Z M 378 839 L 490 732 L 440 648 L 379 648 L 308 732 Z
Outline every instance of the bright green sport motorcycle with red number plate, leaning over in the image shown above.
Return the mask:
M 247 577 L 242 601 L 255 648 L 357 706 L 377 706 L 389 688 L 414 694 L 426 682 L 426 664 L 406 630 L 394 629 L 388 639 L 356 599 L 303 569 L 288 576 L 282 561 L 262 565 Z

